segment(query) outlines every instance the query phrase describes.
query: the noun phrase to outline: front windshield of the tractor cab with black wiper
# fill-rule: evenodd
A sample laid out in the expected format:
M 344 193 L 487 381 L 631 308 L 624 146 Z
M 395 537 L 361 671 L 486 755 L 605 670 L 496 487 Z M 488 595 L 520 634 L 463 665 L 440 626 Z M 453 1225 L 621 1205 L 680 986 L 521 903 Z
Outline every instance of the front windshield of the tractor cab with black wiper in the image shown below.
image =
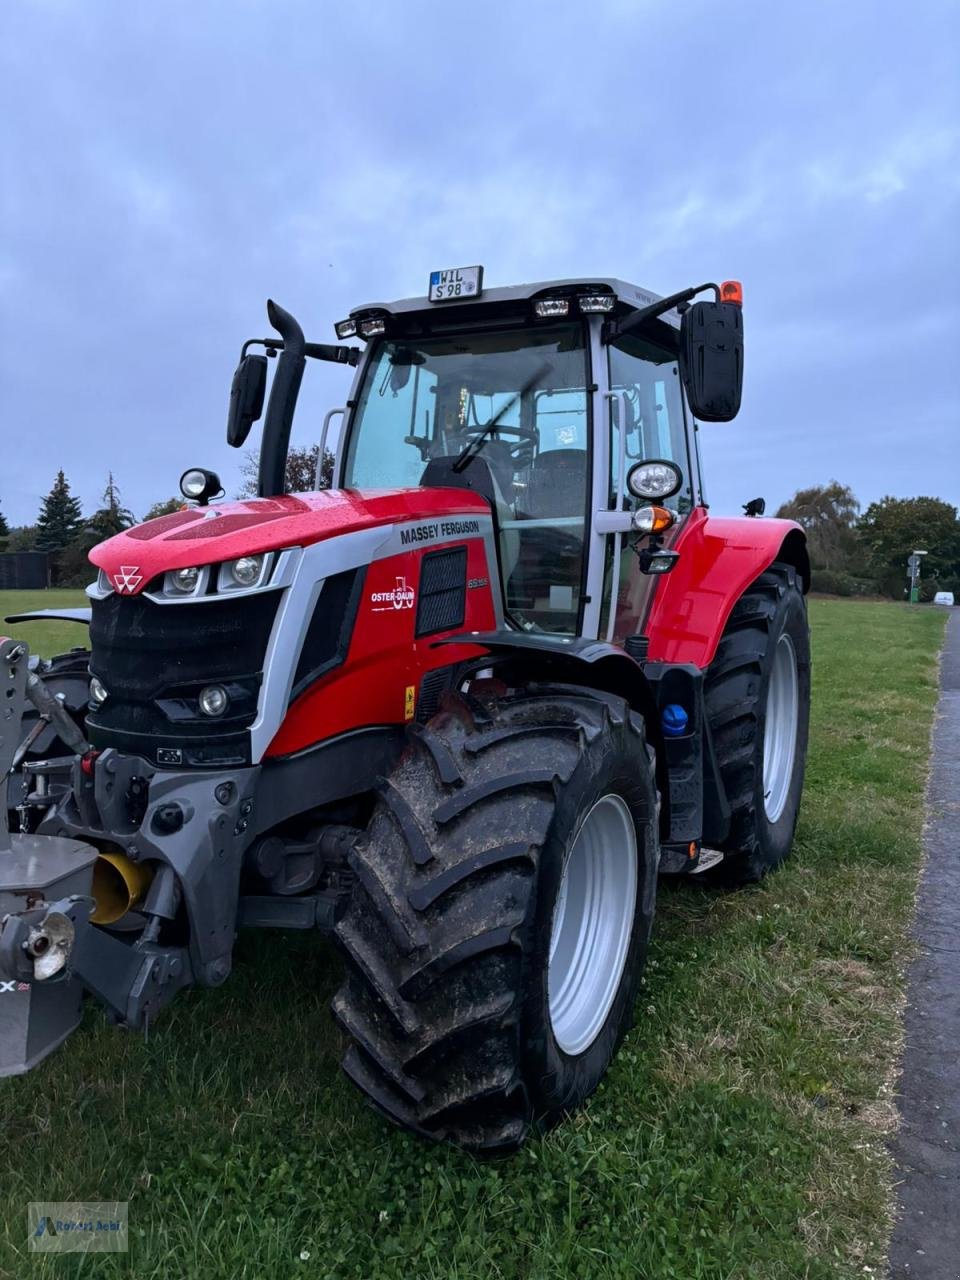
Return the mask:
M 589 410 L 580 323 L 384 339 L 347 442 L 347 488 L 468 483 L 493 499 L 504 602 L 575 635 L 584 580 Z M 460 481 L 456 479 L 460 477 Z

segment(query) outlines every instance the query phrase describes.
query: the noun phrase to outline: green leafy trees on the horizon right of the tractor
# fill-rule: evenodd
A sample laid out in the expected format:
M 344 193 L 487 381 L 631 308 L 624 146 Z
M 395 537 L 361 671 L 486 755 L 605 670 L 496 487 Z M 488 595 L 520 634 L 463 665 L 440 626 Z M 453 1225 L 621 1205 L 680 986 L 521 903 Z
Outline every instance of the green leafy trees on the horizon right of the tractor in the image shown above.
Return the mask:
M 948 502 L 886 497 L 861 511 L 852 489 L 831 480 L 799 489 L 777 515 L 806 532 L 814 591 L 902 599 L 906 558 L 924 550 L 920 599 L 960 595 L 960 517 Z

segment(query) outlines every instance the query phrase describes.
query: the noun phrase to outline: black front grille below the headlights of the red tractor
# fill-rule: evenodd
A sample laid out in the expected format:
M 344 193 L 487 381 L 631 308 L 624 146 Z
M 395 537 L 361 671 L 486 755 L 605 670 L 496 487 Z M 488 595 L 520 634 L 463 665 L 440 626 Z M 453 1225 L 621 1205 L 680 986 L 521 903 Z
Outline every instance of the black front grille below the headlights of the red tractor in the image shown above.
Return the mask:
M 95 746 L 154 764 L 246 764 L 279 591 L 189 604 L 108 595 L 92 602 L 90 669 L 108 700 L 87 717 Z M 211 718 L 197 698 L 228 694 Z

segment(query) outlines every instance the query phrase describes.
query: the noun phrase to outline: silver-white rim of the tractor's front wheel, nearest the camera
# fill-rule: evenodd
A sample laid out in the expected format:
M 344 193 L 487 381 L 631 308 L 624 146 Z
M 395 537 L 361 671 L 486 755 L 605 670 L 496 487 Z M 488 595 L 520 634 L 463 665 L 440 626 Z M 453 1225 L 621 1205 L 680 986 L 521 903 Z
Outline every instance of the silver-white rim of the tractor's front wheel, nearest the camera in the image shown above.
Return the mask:
M 596 1039 L 620 989 L 636 913 L 636 827 L 605 795 L 576 835 L 563 868 L 547 974 L 550 1024 L 564 1053 Z

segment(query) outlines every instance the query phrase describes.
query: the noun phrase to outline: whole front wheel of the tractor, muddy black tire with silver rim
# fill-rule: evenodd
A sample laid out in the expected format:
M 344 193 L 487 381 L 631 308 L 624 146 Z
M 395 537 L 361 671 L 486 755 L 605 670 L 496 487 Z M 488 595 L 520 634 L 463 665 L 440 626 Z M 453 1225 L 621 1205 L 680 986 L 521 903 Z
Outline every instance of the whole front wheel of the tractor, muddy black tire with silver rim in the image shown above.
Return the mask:
M 351 1079 L 398 1124 L 488 1155 L 579 1106 L 630 1025 L 657 819 L 653 753 L 621 699 L 449 699 L 351 859 L 333 1006 Z M 599 941 L 577 950 L 577 933 Z

